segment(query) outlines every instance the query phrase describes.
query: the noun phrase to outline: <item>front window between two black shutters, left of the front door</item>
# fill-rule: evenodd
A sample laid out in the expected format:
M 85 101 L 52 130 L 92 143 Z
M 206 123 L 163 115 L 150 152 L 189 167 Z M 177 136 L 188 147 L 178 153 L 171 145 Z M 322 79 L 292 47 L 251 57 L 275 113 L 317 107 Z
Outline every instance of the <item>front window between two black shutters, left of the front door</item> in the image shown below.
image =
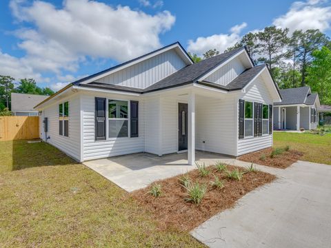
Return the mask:
M 128 137 L 128 101 L 108 100 L 109 138 Z

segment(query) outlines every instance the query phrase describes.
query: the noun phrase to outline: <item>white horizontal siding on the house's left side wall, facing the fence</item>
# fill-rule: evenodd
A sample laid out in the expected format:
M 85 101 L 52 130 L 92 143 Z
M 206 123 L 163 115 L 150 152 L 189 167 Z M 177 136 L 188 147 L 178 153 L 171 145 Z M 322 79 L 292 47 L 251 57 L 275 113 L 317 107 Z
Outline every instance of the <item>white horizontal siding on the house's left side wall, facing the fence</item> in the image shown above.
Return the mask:
M 59 135 L 59 104 L 69 102 L 69 136 Z M 81 118 L 80 118 L 80 99 L 79 94 L 73 94 L 69 98 L 61 99 L 42 110 L 43 114 L 39 116 L 41 123 L 43 118 L 48 118 L 48 133 L 50 137 L 47 143 L 59 148 L 77 161 L 81 160 Z M 43 125 L 41 125 L 41 137 L 45 141 Z

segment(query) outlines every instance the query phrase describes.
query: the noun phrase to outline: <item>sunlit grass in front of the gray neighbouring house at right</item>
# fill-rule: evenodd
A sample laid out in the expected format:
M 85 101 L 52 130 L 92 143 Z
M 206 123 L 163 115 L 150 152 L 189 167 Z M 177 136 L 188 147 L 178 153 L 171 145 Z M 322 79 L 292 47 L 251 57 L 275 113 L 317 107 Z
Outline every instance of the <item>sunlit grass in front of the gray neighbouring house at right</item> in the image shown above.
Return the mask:
M 331 134 L 274 132 L 274 146 L 285 145 L 303 152 L 303 161 L 331 165 Z

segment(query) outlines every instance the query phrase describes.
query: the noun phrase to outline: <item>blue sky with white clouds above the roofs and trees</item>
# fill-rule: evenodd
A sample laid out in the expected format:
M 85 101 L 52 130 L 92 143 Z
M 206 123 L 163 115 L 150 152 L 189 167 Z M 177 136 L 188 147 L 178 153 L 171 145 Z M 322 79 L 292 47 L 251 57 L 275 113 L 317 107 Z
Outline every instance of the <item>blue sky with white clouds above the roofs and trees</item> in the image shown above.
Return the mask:
M 331 5 L 305 1 L 0 1 L 0 74 L 54 90 L 162 45 L 223 52 L 267 25 L 330 36 Z

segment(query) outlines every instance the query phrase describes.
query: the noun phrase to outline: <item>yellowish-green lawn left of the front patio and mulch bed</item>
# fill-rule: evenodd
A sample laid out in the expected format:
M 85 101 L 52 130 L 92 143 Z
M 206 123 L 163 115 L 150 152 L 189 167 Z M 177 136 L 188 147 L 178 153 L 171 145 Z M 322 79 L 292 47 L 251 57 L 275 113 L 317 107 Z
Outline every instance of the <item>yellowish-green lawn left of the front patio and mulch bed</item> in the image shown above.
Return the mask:
M 0 142 L 0 247 L 203 247 L 45 143 Z

